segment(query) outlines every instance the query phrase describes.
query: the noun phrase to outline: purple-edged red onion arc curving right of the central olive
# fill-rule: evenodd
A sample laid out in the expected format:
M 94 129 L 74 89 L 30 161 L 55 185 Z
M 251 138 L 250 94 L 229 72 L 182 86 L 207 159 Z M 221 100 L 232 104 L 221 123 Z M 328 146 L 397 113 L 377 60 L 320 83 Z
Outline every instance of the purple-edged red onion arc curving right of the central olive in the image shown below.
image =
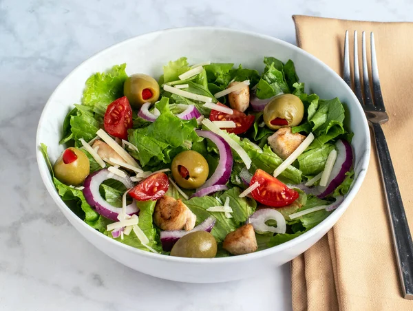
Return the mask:
M 208 138 L 211 140 L 217 147 L 220 153 L 220 162 L 215 169 L 215 172 L 211 175 L 209 180 L 207 180 L 200 188 L 197 189 L 199 192 L 202 189 L 209 188 L 210 186 L 223 185 L 229 181 L 231 177 L 231 171 L 233 166 L 233 156 L 231 152 L 231 147 L 224 138 L 218 136 L 217 134 L 211 131 L 196 130 L 198 136 Z

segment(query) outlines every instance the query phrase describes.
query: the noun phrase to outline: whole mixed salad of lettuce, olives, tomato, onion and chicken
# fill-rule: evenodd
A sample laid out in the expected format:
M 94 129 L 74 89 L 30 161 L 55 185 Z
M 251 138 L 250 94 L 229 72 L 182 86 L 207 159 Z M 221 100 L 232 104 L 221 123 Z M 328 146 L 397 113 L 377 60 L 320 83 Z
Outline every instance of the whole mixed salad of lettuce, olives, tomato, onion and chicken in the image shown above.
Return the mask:
M 61 199 L 119 243 L 175 257 L 245 255 L 294 239 L 353 182 L 339 98 L 304 92 L 293 61 L 190 64 L 85 82 L 51 162 Z

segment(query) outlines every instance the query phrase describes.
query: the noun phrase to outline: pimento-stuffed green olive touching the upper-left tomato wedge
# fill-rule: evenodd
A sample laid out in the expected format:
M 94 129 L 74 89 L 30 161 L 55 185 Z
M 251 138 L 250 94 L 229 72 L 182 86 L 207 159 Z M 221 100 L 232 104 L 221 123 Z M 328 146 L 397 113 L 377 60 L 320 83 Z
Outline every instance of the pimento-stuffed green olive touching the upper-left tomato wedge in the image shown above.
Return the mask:
M 158 82 L 147 74 L 132 74 L 123 85 L 123 94 L 134 108 L 144 103 L 155 103 L 159 98 Z

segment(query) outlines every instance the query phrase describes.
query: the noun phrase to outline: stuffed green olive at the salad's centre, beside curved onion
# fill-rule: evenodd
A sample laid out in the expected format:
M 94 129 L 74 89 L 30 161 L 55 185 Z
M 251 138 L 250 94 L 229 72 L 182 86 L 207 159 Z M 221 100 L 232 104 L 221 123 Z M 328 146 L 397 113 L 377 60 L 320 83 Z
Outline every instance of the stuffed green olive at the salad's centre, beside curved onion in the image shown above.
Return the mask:
M 188 150 L 173 158 L 171 171 L 173 179 L 184 189 L 196 189 L 208 178 L 208 162 L 198 152 Z

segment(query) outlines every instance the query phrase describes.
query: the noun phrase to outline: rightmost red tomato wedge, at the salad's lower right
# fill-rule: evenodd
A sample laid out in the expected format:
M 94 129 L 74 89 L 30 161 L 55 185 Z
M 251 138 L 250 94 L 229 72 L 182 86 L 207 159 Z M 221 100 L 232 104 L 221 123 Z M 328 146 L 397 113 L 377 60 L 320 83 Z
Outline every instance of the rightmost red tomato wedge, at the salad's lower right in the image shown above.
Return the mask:
M 266 206 L 286 206 L 297 200 L 299 196 L 297 191 L 288 188 L 288 186 L 262 171 L 262 169 L 255 171 L 250 186 L 255 182 L 258 182 L 260 186 L 251 192 L 251 195 L 255 200 Z

